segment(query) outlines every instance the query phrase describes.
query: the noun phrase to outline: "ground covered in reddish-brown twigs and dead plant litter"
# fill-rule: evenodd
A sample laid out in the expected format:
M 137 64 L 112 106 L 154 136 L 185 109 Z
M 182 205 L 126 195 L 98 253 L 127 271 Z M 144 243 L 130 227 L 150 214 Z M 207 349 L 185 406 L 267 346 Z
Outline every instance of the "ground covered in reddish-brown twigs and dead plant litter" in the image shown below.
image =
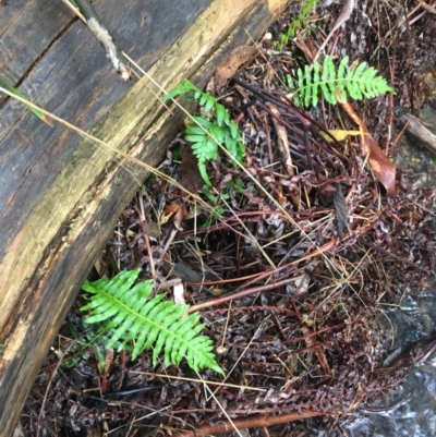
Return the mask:
M 436 102 L 436 20 L 427 12 L 414 21 L 423 9 L 409 16 L 417 3 L 360 1 L 328 45 L 336 43 L 336 59 L 347 53 L 374 65 L 397 90 L 352 102 L 387 153 L 401 147 L 392 109 L 419 116 Z M 194 214 L 194 194 L 152 177 L 126 201 L 93 271 L 92 279 L 133 268 L 156 283 L 180 278 L 226 381 L 208 391 L 184 362 L 154 367 L 148 351 L 132 362 L 126 351 L 89 345 L 95 331 L 83 324 L 81 295 L 23 412 L 25 436 L 237 435 L 229 418 L 252 424 L 245 436 L 340 435 L 340 416 L 359 415 L 416 363 L 415 351 L 384 365 L 391 332 L 379 319 L 434 270 L 436 192 L 412 186 L 397 168 L 396 193 L 387 196 L 356 137 L 337 143 L 320 133 L 358 130 L 342 107 L 322 100 L 296 109 L 287 98 L 287 76 L 311 61 L 341 5 L 318 7 L 278 51 L 274 43 L 299 9 L 290 5 L 221 92 L 244 134 L 246 171 L 226 158 L 209 165 L 216 191 L 198 195 L 219 214 L 204 204 Z M 293 170 L 283 165 L 282 141 Z M 182 134 L 167 156 L 160 171 L 195 190 L 199 175 Z M 211 371 L 201 377 L 222 381 Z

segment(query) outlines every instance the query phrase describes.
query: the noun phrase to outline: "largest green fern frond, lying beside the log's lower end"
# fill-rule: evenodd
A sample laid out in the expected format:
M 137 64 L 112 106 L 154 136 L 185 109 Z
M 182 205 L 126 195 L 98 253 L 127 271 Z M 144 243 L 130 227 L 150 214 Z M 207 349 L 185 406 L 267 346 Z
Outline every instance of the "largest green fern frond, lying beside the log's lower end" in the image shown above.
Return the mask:
M 111 280 L 102 278 L 94 282 L 85 281 L 83 290 L 93 295 L 89 303 L 81 307 L 82 312 L 90 311 L 84 321 L 107 323 L 105 331 L 111 336 L 107 348 L 121 340 L 118 349 L 130 349 L 128 343 L 134 341 L 132 360 L 145 349 L 154 347 L 153 365 L 156 365 L 165 349 L 165 365 L 179 365 L 185 356 L 194 371 L 211 368 L 225 375 L 211 352 L 211 339 L 199 336 L 205 325 L 198 325 L 198 313 L 185 316 L 187 305 L 164 301 L 166 294 L 148 299 L 153 281 L 134 284 L 140 271 L 124 270 Z

